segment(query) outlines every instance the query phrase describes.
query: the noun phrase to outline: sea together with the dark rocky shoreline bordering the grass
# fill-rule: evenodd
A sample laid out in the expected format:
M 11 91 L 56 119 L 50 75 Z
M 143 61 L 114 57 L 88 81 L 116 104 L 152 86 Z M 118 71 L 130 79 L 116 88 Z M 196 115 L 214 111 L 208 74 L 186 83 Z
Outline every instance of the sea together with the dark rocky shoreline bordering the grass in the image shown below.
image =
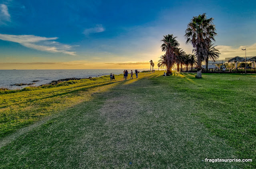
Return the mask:
M 143 70 L 139 70 L 143 71 Z M 18 70 L 17 72 L 3 72 L 3 79 L 0 82 L 0 89 L 18 90 L 25 87 L 38 87 L 58 83 L 58 81 L 81 80 L 84 78 L 94 78 L 106 76 L 110 73 L 121 74 L 123 70 Z

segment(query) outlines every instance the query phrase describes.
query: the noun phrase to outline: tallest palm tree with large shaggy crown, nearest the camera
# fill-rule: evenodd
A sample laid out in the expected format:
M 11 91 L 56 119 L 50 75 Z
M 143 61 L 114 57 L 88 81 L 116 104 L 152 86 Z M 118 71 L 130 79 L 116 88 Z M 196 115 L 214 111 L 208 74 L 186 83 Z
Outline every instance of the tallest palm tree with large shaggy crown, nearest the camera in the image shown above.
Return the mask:
M 191 43 L 193 51 L 197 57 L 197 75 L 196 78 L 202 78 L 202 61 L 208 55 L 208 49 L 212 41 L 215 41 L 214 36 L 217 34 L 214 18 L 206 18 L 206 14 L 194 16 L 191 22 L 187 24 L 185 33 L 186 44 Z

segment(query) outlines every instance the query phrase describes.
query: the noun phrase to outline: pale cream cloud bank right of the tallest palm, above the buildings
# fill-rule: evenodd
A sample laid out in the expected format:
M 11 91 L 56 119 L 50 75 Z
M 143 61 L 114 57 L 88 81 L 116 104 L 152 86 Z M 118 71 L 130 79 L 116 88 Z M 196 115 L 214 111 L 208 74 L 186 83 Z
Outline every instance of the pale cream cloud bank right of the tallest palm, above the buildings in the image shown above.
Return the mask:
M 224 59 L 225 57 L 245 56 L 245 51 L 241 50 L 244 48 L 246 48 L 246 56 L 256 55 L 256 43 L 248 46 L 239 46 L 238 48 L 226 45 L 216 46 L 216 49 L 221 53 L 220 59 Z

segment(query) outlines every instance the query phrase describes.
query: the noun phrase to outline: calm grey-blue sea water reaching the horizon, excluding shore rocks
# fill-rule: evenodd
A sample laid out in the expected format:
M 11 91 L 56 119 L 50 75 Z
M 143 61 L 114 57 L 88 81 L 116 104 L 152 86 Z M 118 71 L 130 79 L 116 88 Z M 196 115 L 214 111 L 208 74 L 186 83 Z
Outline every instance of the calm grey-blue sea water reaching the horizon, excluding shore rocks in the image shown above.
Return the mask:
M 138 69 L 142 71 L 143 69 Z M 123 69 L 84 69 L 84 70 L 0 70 L 0 88 L 22 89 L 24 86 L 12 86 L 16 83 L 35 83 L 39 86 L 50 83 L 52 80 L 63 78 L 88 78 L 103 75 L 122 74 Z M 39 80 L 38 82 L 32 82 Z

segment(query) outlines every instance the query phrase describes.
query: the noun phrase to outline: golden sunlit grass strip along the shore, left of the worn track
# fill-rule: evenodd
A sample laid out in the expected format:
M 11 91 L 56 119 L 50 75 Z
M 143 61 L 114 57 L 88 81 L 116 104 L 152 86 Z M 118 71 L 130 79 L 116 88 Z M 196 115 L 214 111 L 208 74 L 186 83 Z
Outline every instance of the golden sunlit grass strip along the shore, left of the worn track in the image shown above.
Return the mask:
M 91 94 L 101 88 L 123 80 L 116 76 L 69 80 L 57 85 L 26 87 L 22 90 L 2 90 L 0 94 L 0 138 L 28 126 L 43 117 L 60 110 L 88 101 Z

